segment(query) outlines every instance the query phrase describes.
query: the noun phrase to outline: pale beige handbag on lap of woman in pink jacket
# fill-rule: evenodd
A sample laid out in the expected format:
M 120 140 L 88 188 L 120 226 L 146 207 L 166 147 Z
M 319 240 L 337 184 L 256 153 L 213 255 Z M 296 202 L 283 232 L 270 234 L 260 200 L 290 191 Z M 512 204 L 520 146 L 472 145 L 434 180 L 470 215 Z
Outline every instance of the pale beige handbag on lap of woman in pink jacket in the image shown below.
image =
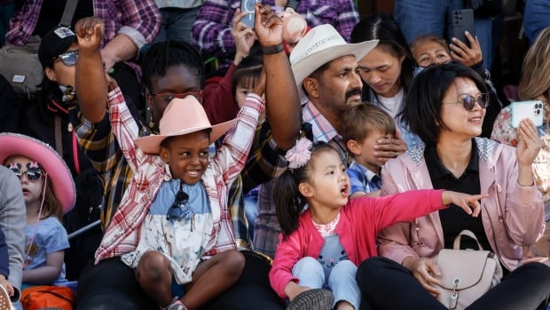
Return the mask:
M 474 239 L 480 250 L 460 250 L 462 235 Z M 461 231 L 454 239 L 453 249 L 440 250 L 436 263 L 441 271 L 437 300 L 448 309 L 470 306 L 502 279 L 499 258 L 490 250 L 483 250 L 469 230 Z

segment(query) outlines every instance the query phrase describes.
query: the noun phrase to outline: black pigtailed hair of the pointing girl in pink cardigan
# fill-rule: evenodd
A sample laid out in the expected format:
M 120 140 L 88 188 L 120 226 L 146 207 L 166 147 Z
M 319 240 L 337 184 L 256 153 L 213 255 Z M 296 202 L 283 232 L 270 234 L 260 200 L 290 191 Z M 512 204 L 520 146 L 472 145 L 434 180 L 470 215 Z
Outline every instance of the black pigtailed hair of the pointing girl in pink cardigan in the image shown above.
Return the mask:
M 337 152 L 334 147 L 325 142 L 315 142 L 310 150 L 311 157 L 329 150 Z M 298 218 L 307 203 L 298 186 L 310 179 L 310 170 L 311 160 L 303 167 L 287 169 L 275 179 L 273 197 L 283 239 L 287 239 L 298 228 Z

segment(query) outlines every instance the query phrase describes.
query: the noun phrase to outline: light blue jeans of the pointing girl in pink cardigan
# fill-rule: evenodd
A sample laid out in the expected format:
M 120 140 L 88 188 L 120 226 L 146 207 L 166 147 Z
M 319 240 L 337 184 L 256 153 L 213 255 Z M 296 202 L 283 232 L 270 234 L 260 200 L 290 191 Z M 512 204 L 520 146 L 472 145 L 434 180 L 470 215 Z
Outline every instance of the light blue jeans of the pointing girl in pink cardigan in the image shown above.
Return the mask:
M 292 268 L 292 274 L 300 279 L 300 286 L 307 286 L 311 289 L 332 290 L 334 295 L 334 305 L 337 302 L 345 300 L 356 309 L 361 304 L 361 292 L 358 283 L 355 280 L 355 274 L 358 266 L 355 266 L 350 260 L 342 260 L 334 265 L 333 270 L 325 279 L 323 266 L 315 258 L 305 257 L 296 263 Z

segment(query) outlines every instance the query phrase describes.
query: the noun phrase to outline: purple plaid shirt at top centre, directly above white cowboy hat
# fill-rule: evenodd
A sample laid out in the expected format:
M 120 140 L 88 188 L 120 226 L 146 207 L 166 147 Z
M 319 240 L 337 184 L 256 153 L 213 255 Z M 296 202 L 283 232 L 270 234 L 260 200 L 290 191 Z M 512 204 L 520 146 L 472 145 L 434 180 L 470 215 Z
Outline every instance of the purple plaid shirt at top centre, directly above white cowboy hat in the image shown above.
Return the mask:
M 274 0 L 263 0 L 262 3 L 275 5 Z M 206 0 L 193 25 L 193 44 L 200 52 L 219 58 L 224 68 L 235 52 L 231 25 L 237 8 L 240 8 L 240 0 Z M 311 28 L 333 25 L 347 42 L 350 42 L 351 30 L 359 21 L 353 0 L 301 0 L 295 11 L 302 14 Z

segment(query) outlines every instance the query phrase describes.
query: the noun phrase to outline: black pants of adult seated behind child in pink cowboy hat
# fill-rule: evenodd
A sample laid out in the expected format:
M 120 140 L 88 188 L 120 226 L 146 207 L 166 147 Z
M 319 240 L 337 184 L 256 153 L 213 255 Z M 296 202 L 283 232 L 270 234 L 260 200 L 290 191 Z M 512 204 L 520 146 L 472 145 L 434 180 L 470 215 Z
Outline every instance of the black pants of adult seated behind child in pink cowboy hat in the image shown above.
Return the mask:
M 240 279 L 202 309 L 282 310 L 284 304 L 271 290 L 271 265 L 260 256 L 243 252 L 246 263 Z M 120 258 L 90 266 L 78 282 L 77 310 L 151 310 L 158 309 L 141 289 L 134 271 Z

